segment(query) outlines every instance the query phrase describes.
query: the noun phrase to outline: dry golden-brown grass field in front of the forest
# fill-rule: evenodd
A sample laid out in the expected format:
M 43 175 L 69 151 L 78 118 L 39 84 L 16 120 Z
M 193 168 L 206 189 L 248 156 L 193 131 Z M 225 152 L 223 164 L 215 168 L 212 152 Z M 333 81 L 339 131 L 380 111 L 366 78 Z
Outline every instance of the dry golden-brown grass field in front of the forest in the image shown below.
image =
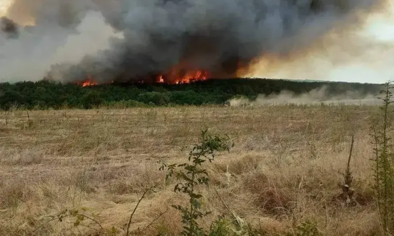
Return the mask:
M 178 235 L 187 203 L 165 182 L 159 159 L 183 162 L 200 131 L 230 135 L 235 146 L 206 167 L 202 188 L 212 211 L 201 225 L 229 215 L 267 235 L 291 231 L 307 219 L 325 235 L 374 235 L 369 121 L 371 106 L 176 107 L 0 112 L 0 235 L 95 235 L 96 224 L 52 221 L 63 209 L 87 207 L 104 229 L 120 229 L 144 189 L 132 230 L 168 208 L 144 233 Z M 356 204 L 338 198 L 351 135 Z M 227 173 L 227 174 L 226 174 Z M 228 175 L 228 173 L 231 174 Z M 217 193 L 215 191 L 217 190 Z M 40 227 L 41 226 L 41 227 Z M 90 228 L 89 228 L 90 227 Z

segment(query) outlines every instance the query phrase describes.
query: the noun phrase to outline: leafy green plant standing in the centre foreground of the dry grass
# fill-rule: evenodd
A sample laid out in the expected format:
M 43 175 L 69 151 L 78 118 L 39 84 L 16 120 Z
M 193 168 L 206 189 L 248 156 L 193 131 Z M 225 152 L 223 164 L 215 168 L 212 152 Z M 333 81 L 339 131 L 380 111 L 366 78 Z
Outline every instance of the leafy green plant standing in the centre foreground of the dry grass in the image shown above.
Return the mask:
M 166 180 L 175 177 L 177 184 L 174 187 L 174 192 L 180 192 L 189 196 L 189 206 L 183 207 L 181 205 L 172 205 L 182 213 L 183 231 L 182 235 L 207 235 L 203 228 L 197 222 L 208 214 L 209 211 L 202 211 L 201 198 L 203 197 L 196 190 L 199 185 L 208 185 L 209 177 L 206 169 L 202 168 L 206 161 L 212 162 L 215 157 L 215 152 L 230 151 L 230 138 L 228 136 L 211 136 L 207 134 L 208 130 L 201 132 L 201 144 L 194 145 L 192 151 L 189 153 L 188 161 L 182 164 L 166 164 L 162 163 L 159 170 L 166 169 Z

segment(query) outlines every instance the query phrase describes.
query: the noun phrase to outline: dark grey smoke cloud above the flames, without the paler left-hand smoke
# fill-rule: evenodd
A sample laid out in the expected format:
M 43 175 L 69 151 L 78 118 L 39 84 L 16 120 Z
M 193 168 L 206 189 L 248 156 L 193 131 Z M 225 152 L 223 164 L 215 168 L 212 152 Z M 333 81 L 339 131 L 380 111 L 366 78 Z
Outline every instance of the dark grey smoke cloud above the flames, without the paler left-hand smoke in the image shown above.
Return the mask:
M 232 76 L 239 66 L 261 55 L 286 57 L 308 48 L 338 24 L 343 29 L 358 27 L 365 13 L 383 4 L 377 0 L 18 0 L 9 16 L 19 22 L 35 20 L 36 26 L 20 44 L 51 38 L 48 48 L 54 52 L 93 17 L 90 12 L 100 12 L 122 37 L 113 37 L 108 48 L 78 61 L 55 64 L 46 57 L 45 63 L 52 64 L 49 75 L 63 82 L 86 75 L 105 82 L 147 78 L 175 65 L 205 69 L 213 77 Z M 86 32 L 90 27 L 94 29 L 94 23 Z M 85 45 L 80 45 L 81 51 Z

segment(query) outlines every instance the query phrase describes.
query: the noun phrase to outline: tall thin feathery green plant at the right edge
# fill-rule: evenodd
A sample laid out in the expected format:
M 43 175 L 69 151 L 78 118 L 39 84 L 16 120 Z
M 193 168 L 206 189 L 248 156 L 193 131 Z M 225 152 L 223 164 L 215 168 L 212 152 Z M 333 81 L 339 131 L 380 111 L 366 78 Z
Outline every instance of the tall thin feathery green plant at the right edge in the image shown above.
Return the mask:
M 374 158 L 373 170 L 375 177 L 375 194 L 380 216 L 383 235 L 388 235 L 394 229 L 394 171 L 393 154 L 389 130 L 391 126 L 391 113 L 389 105 L 392 103 L 390 82 L 384 84 L 385 89 L 381 91 L 384 97 L 383 106 L 380 107 L 380 119 L 373 123 L 373 145 Z M 378 117 L 379 118 L 379 117 Z

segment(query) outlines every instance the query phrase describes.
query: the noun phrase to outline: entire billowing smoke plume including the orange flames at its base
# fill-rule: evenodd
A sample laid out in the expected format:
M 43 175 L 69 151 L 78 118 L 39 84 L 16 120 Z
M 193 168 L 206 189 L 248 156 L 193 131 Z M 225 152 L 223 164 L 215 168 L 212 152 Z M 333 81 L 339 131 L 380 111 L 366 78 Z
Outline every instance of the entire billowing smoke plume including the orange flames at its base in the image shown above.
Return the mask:
M 286 60 L 309 50 L 329 32 L 352 31 L 363 25 L 367 14 L 386 4 L 383 0 L 14 0 L 1 19 L 0 71 L 6 80 L 46 77 L 87 85 L 242 76 L 259 58 L 275 55 Z M 92 50 L 101 37 L 84 39 L 108 27 L 115 33 L 104 35 L 107 45 Z M 71 36 L 76 38 L 73 46 Z M 66 44 L 72 50 L 64 50 Z M 61 49 L 66 53 L 59 56 Z M 24 63 L 28 66 L 21 71 Z

